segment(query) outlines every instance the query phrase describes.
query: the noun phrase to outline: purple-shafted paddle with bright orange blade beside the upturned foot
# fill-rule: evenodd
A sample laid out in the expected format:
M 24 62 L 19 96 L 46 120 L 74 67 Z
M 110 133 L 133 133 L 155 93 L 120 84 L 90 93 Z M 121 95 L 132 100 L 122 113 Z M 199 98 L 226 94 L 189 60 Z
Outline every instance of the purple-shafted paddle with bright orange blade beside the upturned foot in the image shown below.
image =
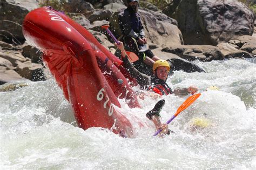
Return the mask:
M 195 100 L 197 100 L 197 98 L 199 98 L 199 96 L 201 95 L 201 93 L 197 93 L 197 94 L 194 94 L 190 97 L 188 97 L 183 104 L 181 104 L 178 108 L 178 110 L 176 111 L 176 113 L 173 115 L 173 117 L 171 119 L 169 119 L 166 124 L 170 124 L 171 121 L 177 117 L 177 115 L 184 111 L 188 106 L 190 106 Z M 162 130 L 158 130 L 156 133 L 154 133 L 154 137 L 160 133 Z

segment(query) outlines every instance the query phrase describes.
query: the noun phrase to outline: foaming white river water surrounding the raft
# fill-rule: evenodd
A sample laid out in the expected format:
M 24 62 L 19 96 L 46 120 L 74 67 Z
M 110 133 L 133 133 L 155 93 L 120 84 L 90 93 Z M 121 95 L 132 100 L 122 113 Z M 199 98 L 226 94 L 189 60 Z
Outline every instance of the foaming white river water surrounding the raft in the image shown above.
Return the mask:
M 167 83 L 196 85 L 202 95 L 162 139 L 152 137 L 153 124 L 145 117 L 159 99 L 139 100 L 143 108 L 133 109 L 120 100 L 122 112 L 149 126 L 125 139 L 101 128 L 78 128 L 53 79 L 0 92 L 0 169 L 255 169 L 255 59 L 194 63 L 207 73 L 175 71 Z M 219 90 L 206 91 L 213 85 Z M 165 122 L 186 97 L 163 98 Z

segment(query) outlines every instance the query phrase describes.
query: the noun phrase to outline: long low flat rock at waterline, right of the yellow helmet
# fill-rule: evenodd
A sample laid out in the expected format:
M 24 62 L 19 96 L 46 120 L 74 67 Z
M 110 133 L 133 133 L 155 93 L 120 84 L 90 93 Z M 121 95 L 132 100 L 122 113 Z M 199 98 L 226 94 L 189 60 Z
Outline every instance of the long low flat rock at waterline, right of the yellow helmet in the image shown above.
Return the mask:
M 164 47 L 164 52 L 174 53 L 177 56 L 193 61 L 199 59 L 203 62 L 210 62 L 211 60 L 223 60 L 224 56 L 220 50 L 211 45 L 177 45 L 173 44 L 170 47 Z

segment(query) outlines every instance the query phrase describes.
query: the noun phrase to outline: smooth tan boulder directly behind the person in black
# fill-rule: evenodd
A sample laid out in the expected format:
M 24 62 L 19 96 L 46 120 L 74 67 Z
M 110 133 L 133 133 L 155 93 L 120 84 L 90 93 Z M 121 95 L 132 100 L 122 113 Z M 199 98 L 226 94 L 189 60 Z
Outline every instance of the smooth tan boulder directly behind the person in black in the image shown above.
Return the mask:
M 115 12 L 110 19 L 110 30 L 117 38 L 122 35 L 118 23 L 118 13 L 123 10 L 120 9 Z M 183 44 L 183 38 L 175 19 L 147 9 L 139 10 L 139 14 L 142 18 L 147 42 L 160 46 L 170 43 Z

